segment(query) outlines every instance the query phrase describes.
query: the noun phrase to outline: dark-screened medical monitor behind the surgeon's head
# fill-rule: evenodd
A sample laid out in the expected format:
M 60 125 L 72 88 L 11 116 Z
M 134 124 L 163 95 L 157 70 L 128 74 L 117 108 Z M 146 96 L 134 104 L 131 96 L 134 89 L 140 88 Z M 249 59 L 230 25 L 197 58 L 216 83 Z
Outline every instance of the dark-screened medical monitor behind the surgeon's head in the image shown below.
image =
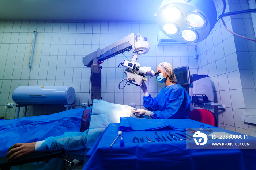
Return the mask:
M 187 86 L 190 84 L 190 73 L 188 66 L 182 66 L 173 69 L 178 84 L 181 86 Z

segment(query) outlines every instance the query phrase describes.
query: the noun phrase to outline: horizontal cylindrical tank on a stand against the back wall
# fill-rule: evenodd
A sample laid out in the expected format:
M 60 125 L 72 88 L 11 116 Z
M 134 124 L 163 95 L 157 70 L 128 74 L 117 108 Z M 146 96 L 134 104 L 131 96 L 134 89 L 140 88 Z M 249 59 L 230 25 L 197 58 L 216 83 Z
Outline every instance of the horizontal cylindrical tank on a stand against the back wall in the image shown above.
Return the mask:
M 71 105 L 75 89 L 71 86 L 19 86 L 12 94 L 19 105 Z

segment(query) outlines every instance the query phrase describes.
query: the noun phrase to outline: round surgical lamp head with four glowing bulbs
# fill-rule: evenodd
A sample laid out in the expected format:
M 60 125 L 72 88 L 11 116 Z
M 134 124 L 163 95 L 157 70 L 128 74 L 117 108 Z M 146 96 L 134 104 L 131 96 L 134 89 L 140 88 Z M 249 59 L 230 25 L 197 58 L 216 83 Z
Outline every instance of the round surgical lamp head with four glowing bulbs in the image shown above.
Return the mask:
M 157 12 L 160 29 L 178 42 L 204 40 L 217 22 L 212 0 L 164 0 Z

